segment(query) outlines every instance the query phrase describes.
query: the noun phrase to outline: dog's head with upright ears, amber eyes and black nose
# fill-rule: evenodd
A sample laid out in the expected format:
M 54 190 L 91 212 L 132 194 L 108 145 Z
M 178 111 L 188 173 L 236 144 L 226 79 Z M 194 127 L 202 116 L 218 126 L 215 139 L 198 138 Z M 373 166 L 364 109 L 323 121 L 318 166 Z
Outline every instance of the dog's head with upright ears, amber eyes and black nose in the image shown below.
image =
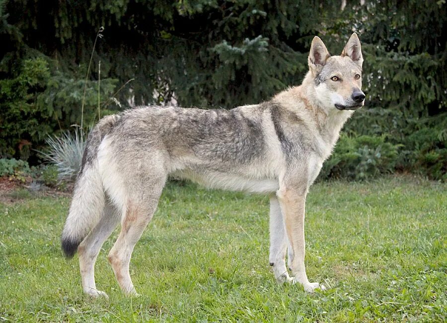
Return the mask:
M 315 36 L 307 61 L 317 99 L 324 108 L 355 110 L 363 107 L 363 56 L 356 33 L 349 38 L 340 56 L 330 56 L 323 41 Z

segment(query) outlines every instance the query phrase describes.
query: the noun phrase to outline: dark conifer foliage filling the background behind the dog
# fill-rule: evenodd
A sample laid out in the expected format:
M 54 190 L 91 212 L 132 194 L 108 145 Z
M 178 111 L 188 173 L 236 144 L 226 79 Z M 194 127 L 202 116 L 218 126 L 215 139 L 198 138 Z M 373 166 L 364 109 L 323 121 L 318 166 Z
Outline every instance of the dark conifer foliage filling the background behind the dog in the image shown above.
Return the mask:
M 47 134 L 81 123 L 101 26 L 85 126 L 98 108 L 267 100 L 300 83 L 314 35 L 338 54 L 356 31 L 367 108 L 348 133 L 402 144 L 395 168 L 447 164 L 446 7 L 445 0 L 0 0 L 0 154 L 26 159 L 24 140 L 38 148 Z M 432 145 L 414 136 L 426 128 L 437 138 Z

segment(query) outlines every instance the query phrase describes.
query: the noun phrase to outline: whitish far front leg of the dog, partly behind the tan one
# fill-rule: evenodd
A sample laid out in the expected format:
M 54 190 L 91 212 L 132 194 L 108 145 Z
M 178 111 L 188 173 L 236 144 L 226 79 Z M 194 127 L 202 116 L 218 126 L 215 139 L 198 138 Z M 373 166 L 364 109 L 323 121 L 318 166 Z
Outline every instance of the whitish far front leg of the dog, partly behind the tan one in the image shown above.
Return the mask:
M 270 196 L 270 266 L 279 283 L 291 282 L 286 268 L 287 235 L 283 215 L 276 195 Z

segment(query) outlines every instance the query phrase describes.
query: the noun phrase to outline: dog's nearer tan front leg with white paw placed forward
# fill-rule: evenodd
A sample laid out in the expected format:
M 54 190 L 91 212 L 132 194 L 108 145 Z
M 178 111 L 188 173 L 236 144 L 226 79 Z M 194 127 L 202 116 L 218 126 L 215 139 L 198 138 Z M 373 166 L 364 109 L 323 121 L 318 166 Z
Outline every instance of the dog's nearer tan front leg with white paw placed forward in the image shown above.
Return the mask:
M 289 239 L 290 269 L 294 276 L 294 283 L 299 283 L 306 292 L 324 286 L 319 283 L 310 283 L 304 267 L 304 206 L 306 194 L 301 190 L 282 188 L 277 192 L 278 201 L 284 217 L 284 225 Z

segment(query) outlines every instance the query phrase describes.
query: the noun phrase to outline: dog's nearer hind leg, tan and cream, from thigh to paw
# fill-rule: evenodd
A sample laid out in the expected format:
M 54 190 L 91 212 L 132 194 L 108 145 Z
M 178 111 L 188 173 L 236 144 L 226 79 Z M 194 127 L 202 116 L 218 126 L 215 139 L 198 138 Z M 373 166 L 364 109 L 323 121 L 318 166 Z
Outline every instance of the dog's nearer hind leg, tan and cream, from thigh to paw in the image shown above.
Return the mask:
M 138 295 L 129 274 L 129 263 L 135 244 L 156 210 L 164 183 L 165 178 L 150 178 L 135 184 L 139 191 L 128 196 L 121 218 L 121 232 L 108 255 L 116 280 L 127 295 Z

